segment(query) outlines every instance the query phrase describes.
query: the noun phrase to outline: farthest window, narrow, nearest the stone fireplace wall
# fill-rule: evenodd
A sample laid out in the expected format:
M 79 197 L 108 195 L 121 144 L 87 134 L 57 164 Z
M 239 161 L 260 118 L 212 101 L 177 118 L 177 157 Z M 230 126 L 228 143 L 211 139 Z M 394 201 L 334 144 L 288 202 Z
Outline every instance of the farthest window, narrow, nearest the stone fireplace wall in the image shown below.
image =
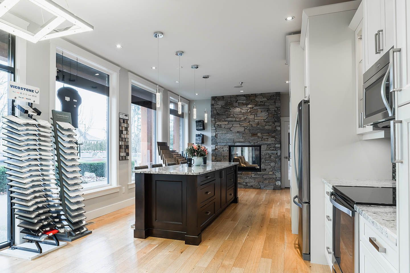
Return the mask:
M 169 102 L 169 149 L 182 152 L 185 148 L 184 140 L 184 105 L 182 113 L 178 114 L 178 103 Z

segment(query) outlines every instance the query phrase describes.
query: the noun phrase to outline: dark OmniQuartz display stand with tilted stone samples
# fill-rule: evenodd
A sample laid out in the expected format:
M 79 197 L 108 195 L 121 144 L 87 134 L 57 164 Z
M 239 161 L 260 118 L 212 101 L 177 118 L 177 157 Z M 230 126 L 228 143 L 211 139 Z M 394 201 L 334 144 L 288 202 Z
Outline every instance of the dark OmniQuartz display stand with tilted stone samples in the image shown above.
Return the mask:
M 77 161 L 78 144 L 71 113 L 52 110 L 52 131 L 54 135 L 56 164 L 59 175 L 60 198 L 71 231 L 58 233 L 62 241 L 74 241 L 91 233 L 85 226 L 84 197 L 82 197 L 81 174 Z

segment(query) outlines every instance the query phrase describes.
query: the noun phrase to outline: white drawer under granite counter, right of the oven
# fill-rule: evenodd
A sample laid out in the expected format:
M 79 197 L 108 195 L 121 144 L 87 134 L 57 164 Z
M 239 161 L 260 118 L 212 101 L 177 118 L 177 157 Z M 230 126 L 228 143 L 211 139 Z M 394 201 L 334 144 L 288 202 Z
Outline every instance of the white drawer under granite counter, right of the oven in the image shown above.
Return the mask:
M 367 247 L 369 252 L 387 270 L 387 272 L 394 272 L 391 271 L 392 268 L 397 269 L 399 267 L 397 246 L 385 239 L 385 237 L 376 230 L 376 228 L 371 226 L 362 216 L 359 217 L 359 225 L 360 241 Z M 385 251 L 383 250 L 383 252 L 379 252 L 376 249 L 376 246 L 370 242 L 370 238 L 373 238 L 372 240 L 376 242 L 376 245 L 379 248 L 385 248 Z M 362 250 L 360 249 L 359 251 Z

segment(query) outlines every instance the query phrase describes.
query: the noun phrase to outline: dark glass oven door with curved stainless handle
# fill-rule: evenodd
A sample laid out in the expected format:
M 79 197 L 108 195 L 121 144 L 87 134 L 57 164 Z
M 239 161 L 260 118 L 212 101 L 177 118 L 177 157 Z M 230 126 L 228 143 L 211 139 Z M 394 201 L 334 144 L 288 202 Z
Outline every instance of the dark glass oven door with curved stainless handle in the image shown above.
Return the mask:
M 355 271 L 355 211 L 333 192 L 333 271 L 336 273 L 359 273 Z

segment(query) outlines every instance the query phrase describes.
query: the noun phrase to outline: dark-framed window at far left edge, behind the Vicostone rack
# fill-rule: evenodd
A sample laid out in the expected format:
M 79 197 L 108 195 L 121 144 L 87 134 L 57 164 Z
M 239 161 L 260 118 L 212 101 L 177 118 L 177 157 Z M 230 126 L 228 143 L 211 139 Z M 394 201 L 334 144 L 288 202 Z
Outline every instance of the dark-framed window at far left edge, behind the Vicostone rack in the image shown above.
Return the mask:
M 0 117 L 11 113 L 11 101 L 7 98 L 7 81 L 14 81 L 14 54 L 15 54 L 15 37 L 0 30 Z M 2 131 L 3 123 L 0 123 Z M 0 249 L 10 244 L 10 232 L 7 222 L 11 215 L 8 205 L 7 174 L 5 174 L 5 153 L 6 149 L 3 144 L 4 135 L 0 133 Z

